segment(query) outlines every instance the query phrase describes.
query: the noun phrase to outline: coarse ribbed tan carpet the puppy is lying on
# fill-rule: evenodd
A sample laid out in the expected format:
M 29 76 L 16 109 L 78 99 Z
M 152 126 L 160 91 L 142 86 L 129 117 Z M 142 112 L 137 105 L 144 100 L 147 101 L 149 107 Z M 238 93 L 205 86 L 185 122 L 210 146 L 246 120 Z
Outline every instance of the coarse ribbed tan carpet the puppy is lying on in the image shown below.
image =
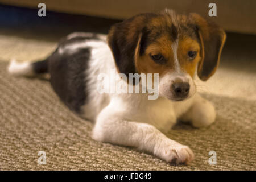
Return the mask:
M 206 94 L 217 109 L 207 129 L 179 124 L 167 136 L 195 154 L 188 166 L 170 166 L 129 147 L 95 142 L 93 124 L 71 113 L 51 89 L 36 78 L 15 78 L 0 63 L 0 169 L 10 170 L 255 170 L 255 101 Z M 38 164 L 38 152 L 46 164 Z M 217 164 L 210 165 L 209 151 Z

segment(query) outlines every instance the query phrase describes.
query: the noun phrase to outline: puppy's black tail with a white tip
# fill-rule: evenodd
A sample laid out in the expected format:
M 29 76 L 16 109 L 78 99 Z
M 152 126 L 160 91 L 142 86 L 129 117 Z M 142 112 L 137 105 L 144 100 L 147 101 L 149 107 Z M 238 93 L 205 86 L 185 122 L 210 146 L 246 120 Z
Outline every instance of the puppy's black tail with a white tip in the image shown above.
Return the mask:
M 48 73 L 48 59 L 36 61 L 34 63 L 19 63 L 15 59 L 10 61 L 8 72 L 15 76 L 37 76 Z

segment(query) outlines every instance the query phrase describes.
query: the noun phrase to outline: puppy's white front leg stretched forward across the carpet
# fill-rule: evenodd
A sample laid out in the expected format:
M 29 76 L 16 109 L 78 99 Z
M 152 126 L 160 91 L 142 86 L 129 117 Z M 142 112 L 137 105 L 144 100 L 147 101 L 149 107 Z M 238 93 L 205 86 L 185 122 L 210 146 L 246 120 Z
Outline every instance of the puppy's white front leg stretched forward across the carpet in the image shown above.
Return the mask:
M 154 126 L 122 119 L 117 108 L 106 107 L 98 115 L 93 139 L 150 152 L 170 163 L 189 163 L 194 155 L 188 146 L 167 138 Z

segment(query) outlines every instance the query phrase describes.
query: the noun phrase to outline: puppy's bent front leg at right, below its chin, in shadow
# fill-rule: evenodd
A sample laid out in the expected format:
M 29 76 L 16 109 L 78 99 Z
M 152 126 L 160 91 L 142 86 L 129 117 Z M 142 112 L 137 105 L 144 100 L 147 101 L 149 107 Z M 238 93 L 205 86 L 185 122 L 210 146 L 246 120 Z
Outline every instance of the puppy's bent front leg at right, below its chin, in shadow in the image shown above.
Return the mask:
M 194 127 L 205 127 L 215 121 L 216 111 L 211 102 L 196 94 L 191 108 L 179 119 L 185 122 L 190 121 Z

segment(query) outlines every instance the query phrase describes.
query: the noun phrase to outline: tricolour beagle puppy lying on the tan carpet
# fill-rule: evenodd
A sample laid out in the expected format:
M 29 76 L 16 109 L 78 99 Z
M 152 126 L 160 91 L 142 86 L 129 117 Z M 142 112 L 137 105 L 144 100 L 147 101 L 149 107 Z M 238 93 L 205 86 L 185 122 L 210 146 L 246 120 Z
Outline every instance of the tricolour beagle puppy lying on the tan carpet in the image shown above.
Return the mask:
M 177 121 L 195 127 L 214 122 L 214 106 L 196 93 L 193 78 L 197 74 L 205 81 L 216 72 L 225 39 L 222 28 L 200 15 L 166 9 L 114 24 L 108 38 L 70 34 L 47 59 L 12 61 L 9 72 L 23 76 L 49 73 L 60 100 L 95 122 L 94 140 L 136 147 L 168 163 L 187 164 L 194 158 L 191 149 L 163 133 Z M 123 76 L 156 74 L 159 97 L 150 100 L 150 93 L 98 92 L 102 84 L 98 75 L 109 75 L 112 69 Z M 122 79 L 103 84 L 112 88 L 117 82 L 138 85 Z

